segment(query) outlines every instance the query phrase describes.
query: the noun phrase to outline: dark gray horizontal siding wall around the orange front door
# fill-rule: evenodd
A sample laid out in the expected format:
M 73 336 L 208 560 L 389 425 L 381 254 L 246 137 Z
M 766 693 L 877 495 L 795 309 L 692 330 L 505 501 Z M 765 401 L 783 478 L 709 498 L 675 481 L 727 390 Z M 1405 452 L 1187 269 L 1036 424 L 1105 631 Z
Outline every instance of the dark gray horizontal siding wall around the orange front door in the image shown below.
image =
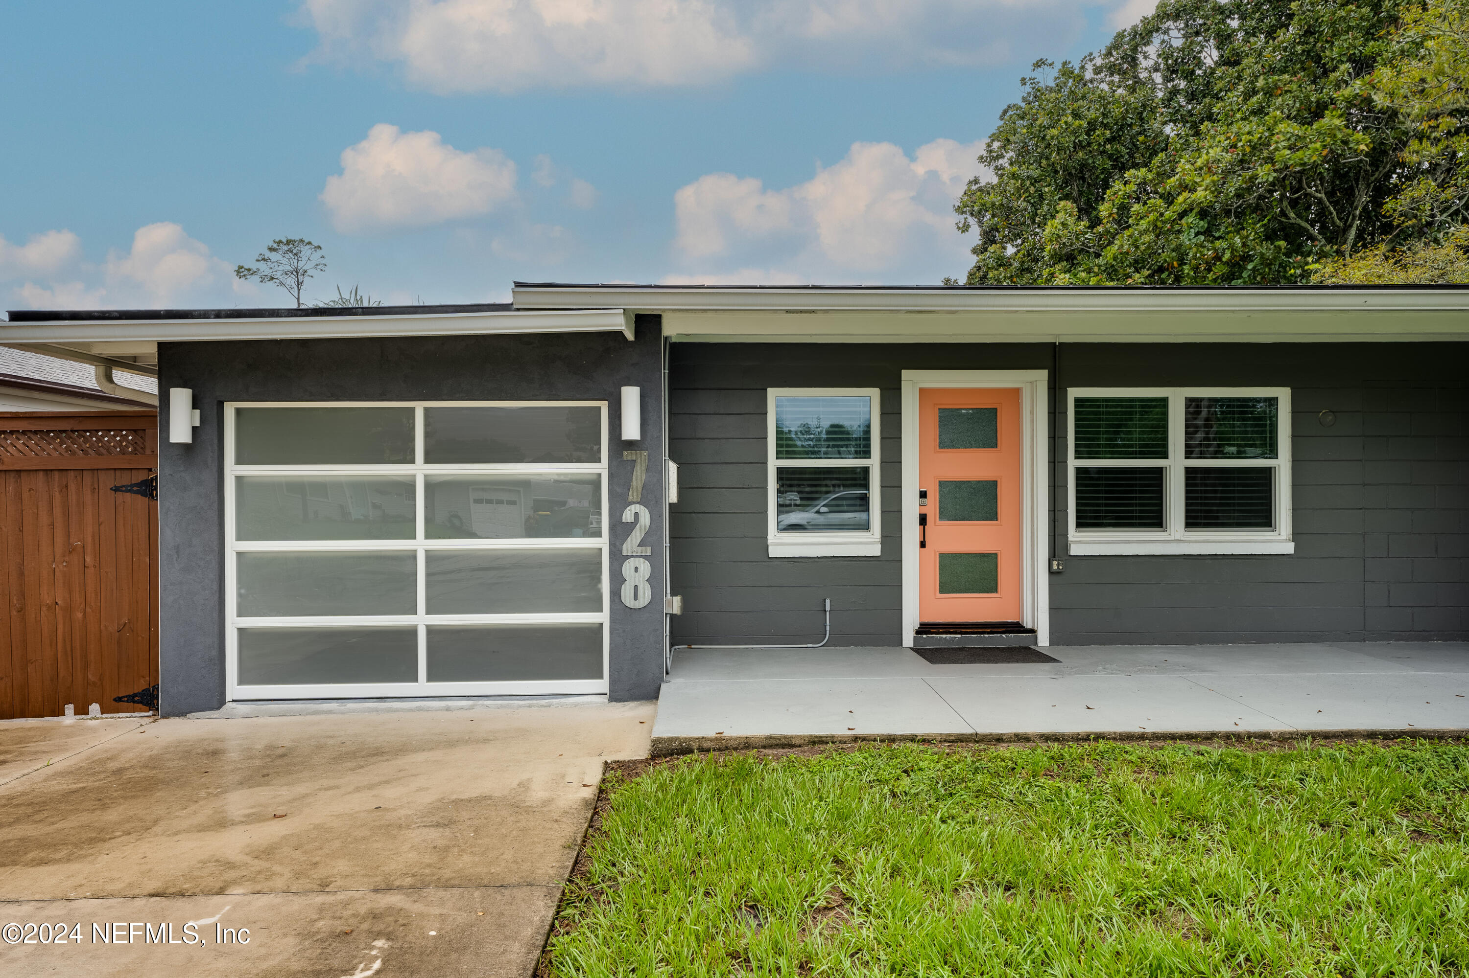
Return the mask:
M 1050 576 L 1056 643 L 1443 640 L 1469 637 L 1466 344 L 676 344 L 670 355 L 671 574 L 679 642 L 820 637 L 895 645 L 900 627 L 902 370 L 1050 369 Z M 1053 374 L 1055 376 L 1055 374 Z M 1288 386 L 1288 557 L 1068 557 L 1066 386 Z M 765 388 L 883 391 L 883 555 L 770 558 Z M 1329 408 L 1332 427 L 1318 414 Z M 1058 461 L 1059 460 L 1059 461 Z

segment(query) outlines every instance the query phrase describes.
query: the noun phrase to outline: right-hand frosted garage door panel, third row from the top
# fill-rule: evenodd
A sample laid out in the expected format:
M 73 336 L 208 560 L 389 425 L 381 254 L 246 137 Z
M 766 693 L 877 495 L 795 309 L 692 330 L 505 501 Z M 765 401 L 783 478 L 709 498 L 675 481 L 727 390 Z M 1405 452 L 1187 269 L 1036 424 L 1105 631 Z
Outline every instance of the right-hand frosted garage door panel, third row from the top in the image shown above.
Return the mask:
M 429 551 L 430 615 L 592 612 L 602 609 L 602 552 Z

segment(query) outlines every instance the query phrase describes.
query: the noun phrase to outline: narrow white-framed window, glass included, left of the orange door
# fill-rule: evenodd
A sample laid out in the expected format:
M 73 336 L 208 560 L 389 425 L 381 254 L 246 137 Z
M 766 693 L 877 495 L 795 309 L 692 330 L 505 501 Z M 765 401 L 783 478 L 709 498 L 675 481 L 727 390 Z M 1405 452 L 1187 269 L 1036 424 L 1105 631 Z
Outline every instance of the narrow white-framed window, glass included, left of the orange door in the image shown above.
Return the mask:
M 876 388 L 770 388 L 771 557 L 877 557 L 880 404 Z

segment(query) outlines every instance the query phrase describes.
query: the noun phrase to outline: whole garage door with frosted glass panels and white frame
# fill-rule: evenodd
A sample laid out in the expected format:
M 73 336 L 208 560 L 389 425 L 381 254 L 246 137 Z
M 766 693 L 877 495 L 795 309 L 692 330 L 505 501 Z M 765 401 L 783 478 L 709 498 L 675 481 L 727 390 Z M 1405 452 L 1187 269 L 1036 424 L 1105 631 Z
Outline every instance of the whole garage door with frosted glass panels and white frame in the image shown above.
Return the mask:
M 604 402 L 229 404 L 231 699 L 607 692 Z

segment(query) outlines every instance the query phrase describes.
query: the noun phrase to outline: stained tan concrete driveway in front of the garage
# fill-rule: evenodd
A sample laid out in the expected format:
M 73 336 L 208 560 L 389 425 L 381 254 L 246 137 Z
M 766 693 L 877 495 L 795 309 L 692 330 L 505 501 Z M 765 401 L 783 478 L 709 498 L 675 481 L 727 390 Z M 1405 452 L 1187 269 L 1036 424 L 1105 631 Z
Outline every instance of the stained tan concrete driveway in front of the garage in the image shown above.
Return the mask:
M 0 724 L 0 974 L 529 975 L 654 711 Z

